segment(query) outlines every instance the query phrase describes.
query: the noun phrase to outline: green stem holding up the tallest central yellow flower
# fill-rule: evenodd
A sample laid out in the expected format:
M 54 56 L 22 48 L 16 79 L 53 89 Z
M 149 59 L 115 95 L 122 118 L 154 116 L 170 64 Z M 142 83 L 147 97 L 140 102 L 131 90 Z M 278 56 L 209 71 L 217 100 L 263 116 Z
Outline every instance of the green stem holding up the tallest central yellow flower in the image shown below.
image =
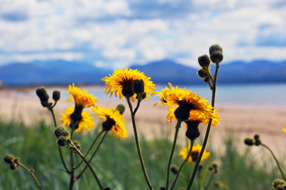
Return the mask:
M 134 112 L 133 112 L 133 110 L 132 110 L 132 105 L 131 105 L 131 102 L 130 102 L 130 98 L 129 98 L 129 97 L 126 97 L 126 100 L 127 100 L 127 103 L 128 103 L 129 109 L 130 109 L 130 112 L 131 112 L 132 125 L 133 125 L 134 136 L 135 136 L 135 142 L 136 142 L 137 152 L 138 152 L 139 160 L 140 160 L 140 163 L 141 163 L 141 168 L 142 168 L 142 171 L 143 171 L 143 175 L 144 175 L 144 177 L 145 177 L 145 180 L 146 180 L 146 182 L 147 182 L 147 185 L 148 185 L 149 189 L 150 189 L 150 190 L 153 190 L 152 185 L 151 185 L 151 183 L 150 183 L 150 181 L 149 181 L 149 178 L 148 178 L 146 169 L 145 169 L 145 165 L 144 165 L 143 158 L 142 158 L 142 154 L 141 154 L 141 150 L 140 150 L 140 145 L 139 145 L 139 140 L 138 140 L 138 135 L 137 135 L 136 124 L 135 124 L 135 116 L 134 116 Z M 138 106 L 137 106 L 137 107 L 138 107 Z

